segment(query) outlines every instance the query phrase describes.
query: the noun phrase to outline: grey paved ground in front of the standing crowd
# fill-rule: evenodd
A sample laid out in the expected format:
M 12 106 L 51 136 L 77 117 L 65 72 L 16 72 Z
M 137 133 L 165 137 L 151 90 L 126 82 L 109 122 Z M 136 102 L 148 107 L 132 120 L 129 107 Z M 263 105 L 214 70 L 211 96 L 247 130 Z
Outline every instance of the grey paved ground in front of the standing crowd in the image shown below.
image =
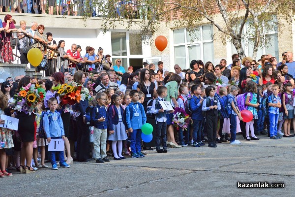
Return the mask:
M 241 138 L 240 135 L 237 136 Z M 77 163 L 59 170 L 14 173 L 0 179 L 1 197 L 269 197 L 294 196 L 295 137 L 217 148 L 183 147 L 166 154 L 104 164 Z M 237 182 L 284 183 L 284 188 L 241 189 Z

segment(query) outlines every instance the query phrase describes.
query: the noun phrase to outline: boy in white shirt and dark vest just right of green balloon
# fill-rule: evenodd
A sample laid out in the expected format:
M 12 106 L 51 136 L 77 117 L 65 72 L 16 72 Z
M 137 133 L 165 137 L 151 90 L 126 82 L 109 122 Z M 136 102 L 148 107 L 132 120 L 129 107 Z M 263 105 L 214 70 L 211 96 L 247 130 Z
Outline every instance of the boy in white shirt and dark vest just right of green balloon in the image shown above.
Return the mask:
M 164 97 L 167 97 L 167 87 L 159 86 L 157 89 L 158 98 L 154 99 L 152 102 L 151 113 L 155 114 L 156 119 L 156 130 L 154 131 L 156 138 L 156 151 L 157 153 L 167 153 L 167 143 L 166 143 L 166 127 L 167 118 L 166 111 L 162 109 L 159 101 L 164 101 Z M 160 140 L 162 141 L 163 149 L 160 149 Z

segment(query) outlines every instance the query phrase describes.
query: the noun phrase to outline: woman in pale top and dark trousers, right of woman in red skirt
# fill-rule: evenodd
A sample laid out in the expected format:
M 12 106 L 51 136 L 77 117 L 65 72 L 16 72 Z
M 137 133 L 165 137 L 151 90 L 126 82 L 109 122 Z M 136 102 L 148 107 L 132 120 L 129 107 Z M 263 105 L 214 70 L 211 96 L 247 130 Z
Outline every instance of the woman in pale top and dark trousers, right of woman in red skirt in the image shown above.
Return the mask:
M 17 33 L 18 39 L 20 41 L 20 49 L 19 52 L 21 54 L 20 60 L 21 64 L 28 64 L 27 54 L 30 49 L 29 46 L 29 38 L 26 37 L 25 33 L 27 33 L 27 22 L 24 20 L 20 21 L 21 28 L 19 29 L 20 33 Z

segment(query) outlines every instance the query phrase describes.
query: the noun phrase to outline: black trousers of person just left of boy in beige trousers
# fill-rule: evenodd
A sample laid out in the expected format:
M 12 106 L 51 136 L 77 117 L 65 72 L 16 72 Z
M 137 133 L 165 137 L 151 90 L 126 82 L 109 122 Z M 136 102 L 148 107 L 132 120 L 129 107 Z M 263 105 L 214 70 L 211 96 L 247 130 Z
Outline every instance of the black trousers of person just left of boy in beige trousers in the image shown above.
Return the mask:
M 77 120 L 77 160 L 83 162 L 90 158 L 89 127 L 83 122 L 83 116 L 80 115 Z

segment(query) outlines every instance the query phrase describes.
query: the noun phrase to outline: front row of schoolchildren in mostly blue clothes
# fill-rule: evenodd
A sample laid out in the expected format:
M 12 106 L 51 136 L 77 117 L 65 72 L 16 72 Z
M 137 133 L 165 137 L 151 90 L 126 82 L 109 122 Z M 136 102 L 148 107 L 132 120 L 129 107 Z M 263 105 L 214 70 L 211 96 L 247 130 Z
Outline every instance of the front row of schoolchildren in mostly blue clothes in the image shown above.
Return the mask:
M 204 146 L 206 133 L 208 147 L 217 147 L 217 142 L 227 140 L 230 141 L 230 144 L 240 144 L 241 142 L 236 139 L 236 133 L 240 131 L 248 141 L 259 140 L 256 135 L 265 134 L 264 122 L 266 122 L 270 139 L 294 136 L 290 133 L 291 122 L 294 118 L 294 93 L 291 83 L 277 85 L 268 82 L 263 87 L 256 85 L 253 81 L 248 81 L 245 93 L 242 94 L 239 94 L 240 89 L 236 85 L 228 87 L 212 85 L 203 88 L 189 83 L 188 87 L 181 84 L 178 91 L 178 107 L 184 110 L 189 108 L 192 119 L 186 131 L 179 128 L 180 146 L 178 147 Z M 156 121 L 153 136 L 157 153 L 167 153 L 167 144 L 170 142 L 167 141 L 166 130 L 167 124 L 170 125 L 174 111 L 164 110 L 159 104 L 159 101 L 163 101 L 167 97 L 167 87 L 159 86 L 156 92 L 158 97 L 153 99 L 151 107 L 151 113 L 154 114 Z M 110 140 L 112 141 L 114 160 L 126 159 L 122 155 L 122 148 L 127 147 L 128 133 L 131 157 L 145 157 L 141 145 L 141 127 L 147 122 L 145 107 L 141 103 L 144 100 L 144 95 L 141 95 L 140 98 L 140 92 L 137 90 L 127 91 L 123 97 L 119 93 L 115 94 L 113 90 L 108 90 L 107 93 L 97 93 L 92 102 L 94 106 L 91 111 L 91 122 L 94 127 L 92 157 L 96 158 L 96 163 L 109 162 L 106 147 L 107 140 Z M 238 99 L 244 99 L 245 109 L 253 115 L 253 119 L 247 123 L 242 122 L 243 117 L 237 103 L 237 95 L 241 96 Z M 226 100 L 226 103 L 223 104 L 228 111 L 227 117 L 223 117 L 224 115 L 220 113 L 222 110 L 221 99 Z M 49 99 L 50 109 L 43 116 L 43 127 L 48 142 L 54 138 L 64 138 L 62 120 L 59 118 L 59 112 L 56 111 L 57 105 L 57 99 Z M 50 114 L 50 121 L 48 114 Z M 284 133 L 280 132 L 282 126 L 284 126 Z M 161 149 L 160 146 L 163 148 Z M 128 150 L 129 148 L 125 149 L 125 155 L 128 155 Z M 58 169 L 55 152 L 51 152 L 50 158 L 53 169 Z M 59 152 L 59 159 L 61 167 L 70 167 L 63 160 L 63 151 Z

